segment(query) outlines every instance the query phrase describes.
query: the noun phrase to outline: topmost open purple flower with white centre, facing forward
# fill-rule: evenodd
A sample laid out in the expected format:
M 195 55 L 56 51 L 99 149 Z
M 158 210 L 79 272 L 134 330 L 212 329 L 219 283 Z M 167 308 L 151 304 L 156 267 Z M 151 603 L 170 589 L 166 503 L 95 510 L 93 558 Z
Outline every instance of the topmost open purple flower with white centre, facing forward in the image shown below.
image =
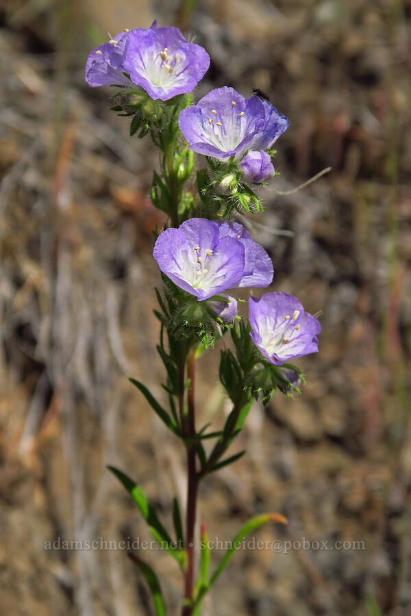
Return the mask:
M 203 47 L 187 42 L 178 28 L 132 30 L 127 38 L 124 68 L 134 84 L 152 99 L 168 101 L 191 92 L 210 66 Z

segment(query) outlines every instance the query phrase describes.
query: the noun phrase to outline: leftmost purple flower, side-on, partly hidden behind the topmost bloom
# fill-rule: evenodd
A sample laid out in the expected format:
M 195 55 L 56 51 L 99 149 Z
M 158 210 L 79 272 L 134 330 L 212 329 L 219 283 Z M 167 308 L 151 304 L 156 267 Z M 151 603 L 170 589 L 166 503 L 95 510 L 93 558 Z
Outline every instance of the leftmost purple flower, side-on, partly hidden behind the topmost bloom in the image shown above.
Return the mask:
M 142 29 L 134 32 L 143 31 Z M 86 81 L 89 86 L 132 85 L 130 80 L 123 75 L 125 68 L 125 44 L 129 36 L 129 30 L 123 30 L 116 34 L 112 40 L 103 43 L 92 50 L 86 62 Z

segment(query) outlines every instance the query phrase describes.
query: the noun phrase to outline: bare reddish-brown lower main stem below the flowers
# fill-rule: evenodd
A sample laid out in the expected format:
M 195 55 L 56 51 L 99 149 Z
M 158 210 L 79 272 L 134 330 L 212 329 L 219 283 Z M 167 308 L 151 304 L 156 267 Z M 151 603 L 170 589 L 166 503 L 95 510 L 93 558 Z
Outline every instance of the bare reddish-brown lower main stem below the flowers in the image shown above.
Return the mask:
M 189 439 L 195 437 L 195 351 L 191 350 L 187 359 L 188 378 L 188 416 L 186 423 L 186 436 Z M 186 512 L 186 550 L 187 570 L 185 580 L 185 604 L 182 608 L 182 616 L 191 616 L 192 591 L 194 587 L 194 530 L 197 511 L 198 478 L 195 464 L 196 444 L 191 442 L 187 446 L 187 512 Z

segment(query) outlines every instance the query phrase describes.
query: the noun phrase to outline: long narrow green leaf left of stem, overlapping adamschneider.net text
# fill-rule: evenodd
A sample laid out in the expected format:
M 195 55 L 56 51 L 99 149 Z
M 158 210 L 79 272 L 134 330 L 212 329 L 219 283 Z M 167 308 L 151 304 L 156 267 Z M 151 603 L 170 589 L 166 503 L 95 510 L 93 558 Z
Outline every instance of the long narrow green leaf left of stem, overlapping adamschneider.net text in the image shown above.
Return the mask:
M 127 492 L 129 492 L 132 496 L 132 499 L 138 506 L 138 509 L 140 509 L 142 517 L 144 517 L 147 522 L 153 537 L 157 539 L 160 546 L 164 547 L 164 549 L 169 552 L 171 556 L 174 556 L 176 561 L 181 564 L 185 559 L 184 552 L 173 546 L 173 540 L 158 519 L 157 514 L 140 486 L 115 466 L 108 466 L 108 470 L 110 470 L 116 478 L 121 481 Z

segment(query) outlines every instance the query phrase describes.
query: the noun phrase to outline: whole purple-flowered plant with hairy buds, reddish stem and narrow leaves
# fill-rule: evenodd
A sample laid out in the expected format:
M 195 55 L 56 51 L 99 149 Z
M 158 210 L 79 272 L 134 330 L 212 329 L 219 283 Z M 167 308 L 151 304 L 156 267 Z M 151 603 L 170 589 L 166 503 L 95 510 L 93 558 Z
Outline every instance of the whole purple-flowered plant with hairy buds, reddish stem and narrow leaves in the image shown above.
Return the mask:
M 195 532 L 197 496 L 203 478 L 245 453 L 233 454 L 229 448 L 253 400 L 266 404 L 277 390 L 287 396 L 299 392 L 303 376 L 287 362 L 316 352 L 321 331 L 299 300 L 283 292 L 250 297 L 248 320 L 237 314 L 236 289 L 269 286 L 273 264 L 232 217 L 262 211 L 255 187 L 277 175 L 271 162 L 273 144 L 289 123 L 269 101 L 258 95 L 245 99 L 228 87 L 212 90 L 193 105 L 190 93 L 209 64 L 205 49 L 188 42 L 177 28 L 157 27 L 157 21 L 147 29 L 125 29 L 96 47 L 86 63 L 90 86 L 116 86 L 111 108 L 131 120 L 130 135 L 149 136 L 162 154 L 160 170 L 153 172 L 151 201 L 170 221 L 157 235 L 153 253 L 163 283 L 162 290 L 155 289 L 155 316 L 160 320 L 158 352 L 166 371 L 168 409 L 144 383 L 130 380 L 186 448 L 185 525 L 177 498 L 171 535 L 142 488 L 120 470 L 110 470 L 131 494 L 155 539 L 182 569 L 182 616 L 201 613 L 203 597 L 227 566 L 236 541 L 266 522 L 286 524 L 279 514 L 253 517 L 210 574 L 206 530 L 201 526 L 199 537 Z M 197 195 L 187 188 L 193 185 L 195 152 L 206 155 L 208 162 L 208 168 L 197 171 Z M 221 350 L 219 376 L 232 411 L 222 430 L 212 432 L 209 424 L 199 429 L 196 360 L 228 334 L 232 344 Z M 199 554 L 196 548 L 201 548 Z M 157 576 L 139 556 L 133 559 L 149 584 L 155 613 L 164 616 Z

